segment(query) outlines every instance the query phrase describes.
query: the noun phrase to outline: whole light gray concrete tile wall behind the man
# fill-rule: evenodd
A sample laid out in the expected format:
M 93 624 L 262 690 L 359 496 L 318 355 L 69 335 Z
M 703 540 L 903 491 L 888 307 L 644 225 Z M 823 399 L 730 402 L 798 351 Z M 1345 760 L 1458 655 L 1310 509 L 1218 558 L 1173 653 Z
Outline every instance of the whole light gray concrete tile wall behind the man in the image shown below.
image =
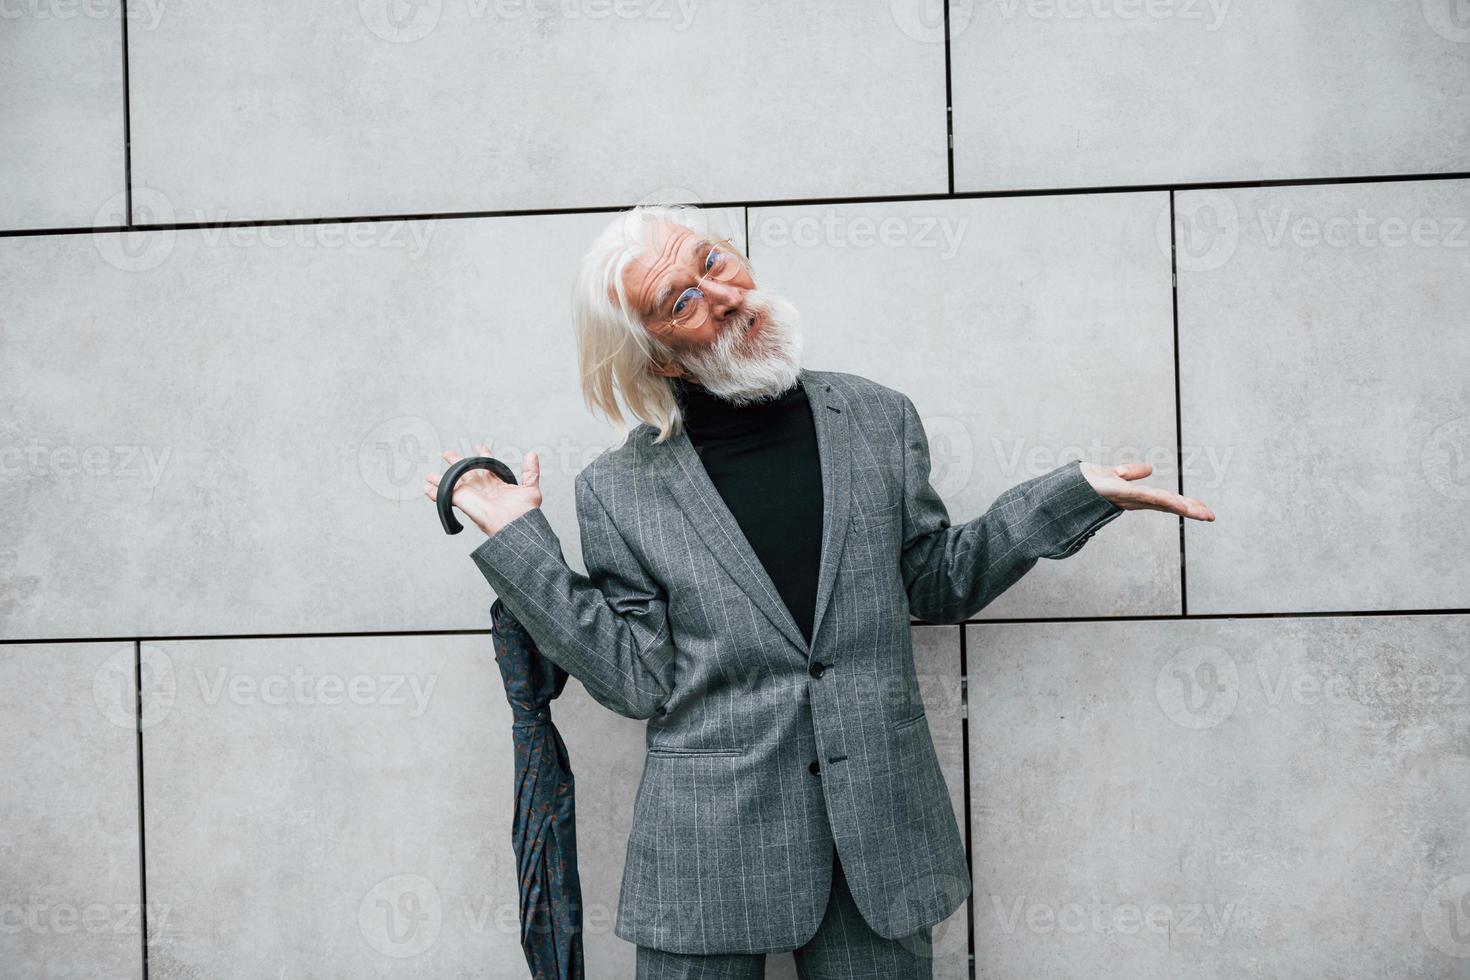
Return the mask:
M 954 522 L 1072 457 L 1217 514 L 914 626 L 936 977 L 1470 970 L 1463 3 L 26 0 L 0 66 L 0 976 L 526 976 L 419 486 L 537 450 L 581 569 L 567 289 L 647 200 L 914 400 Z M 557 718 L 626 977 L 642 730 Z

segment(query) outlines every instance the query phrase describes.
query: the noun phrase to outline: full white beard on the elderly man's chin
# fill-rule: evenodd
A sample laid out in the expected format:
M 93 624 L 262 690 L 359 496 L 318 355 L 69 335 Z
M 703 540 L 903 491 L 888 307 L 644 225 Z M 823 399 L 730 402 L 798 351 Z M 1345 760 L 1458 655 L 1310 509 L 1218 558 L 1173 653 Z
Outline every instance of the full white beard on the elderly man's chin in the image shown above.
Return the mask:
M 760 332 L 745 336 L 756 314 Z M 710 394 L 735 404 L 767 401 L 797 383 L 801 373 L 801 314 L 785 297 L 750 289 L 745 316 L 731 322 L 709 347 L 681 348 L 675 363 Z

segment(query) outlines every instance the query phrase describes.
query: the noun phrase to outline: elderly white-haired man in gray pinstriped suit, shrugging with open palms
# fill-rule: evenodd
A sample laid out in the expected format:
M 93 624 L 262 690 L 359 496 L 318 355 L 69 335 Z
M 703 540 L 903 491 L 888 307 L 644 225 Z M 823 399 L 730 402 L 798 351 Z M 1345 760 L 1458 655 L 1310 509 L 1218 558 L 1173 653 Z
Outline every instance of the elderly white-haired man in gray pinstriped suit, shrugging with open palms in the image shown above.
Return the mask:
M 963 623 L 1125 510 L 1214 514 L 1147 464 L 1072 460 L 951 525 L 908 397 L 801 367 L 797 310 L 700 215 L 620 213 L 581 267 L 584 395 L 642 419 L 575 478 L 587 574 L 534 453 L 453 504 L 539 651 L 648 721 L 614 921 L 639 977 L 760 977 L 778 951 L 803 977 L 929 977 L 970 877 L 910 617 Z

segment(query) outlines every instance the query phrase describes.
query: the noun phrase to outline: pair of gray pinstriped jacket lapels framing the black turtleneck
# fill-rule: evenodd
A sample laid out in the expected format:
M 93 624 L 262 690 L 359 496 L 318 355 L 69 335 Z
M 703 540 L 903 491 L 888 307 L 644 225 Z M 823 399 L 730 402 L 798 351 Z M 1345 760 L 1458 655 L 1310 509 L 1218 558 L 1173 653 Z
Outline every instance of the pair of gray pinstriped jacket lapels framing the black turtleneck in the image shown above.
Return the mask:
M 822 629 L 823 613 L 831 602 L 836 564 L 847 542 L 848 502 L 851 500 L 851 433 L 847 404 L 841 392 L 813 372 L 801 370 L 801 383 L 816 426 L 817 455 L 822 463 L 822 561 L 817 573 L 816 617 L 811 624 L 813 642 Z M 651 447 L 659 460 L 659 475 L 675 501 L 688 516 L 700 539 L 716 560 L 731 573 L 739 588 L 750 595 L 770 623 L 791 641 L 807 660 L 811 649 L 801 636 L 801 627 L 791 617 L 776 585 L 770 580 L 754 548 L 741 530 L 735 516 L 700 460 L 698 451 L 682 429 L 663 445 Z

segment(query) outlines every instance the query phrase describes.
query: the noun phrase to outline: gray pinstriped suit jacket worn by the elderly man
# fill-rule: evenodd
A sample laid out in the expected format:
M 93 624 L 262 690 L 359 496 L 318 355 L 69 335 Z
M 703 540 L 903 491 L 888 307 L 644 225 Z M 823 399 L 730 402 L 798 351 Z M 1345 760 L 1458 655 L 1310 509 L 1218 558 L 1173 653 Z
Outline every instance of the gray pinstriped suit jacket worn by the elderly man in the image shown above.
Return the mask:
M 642 423 L 576 476 L 587 576 L 539 508 L 472 554 L 542 655 L 648 720 L 613 929 L 641 946 L 804 945 L 833 846 L 881 936 L 954 912 L 970 877 L 910 616 L 963 621 L 1123 513 L 1072 460 L 951 526 L 907 395 L 801 378 L 823 483 L 811 648 L 682 430 L 654 445 Z

